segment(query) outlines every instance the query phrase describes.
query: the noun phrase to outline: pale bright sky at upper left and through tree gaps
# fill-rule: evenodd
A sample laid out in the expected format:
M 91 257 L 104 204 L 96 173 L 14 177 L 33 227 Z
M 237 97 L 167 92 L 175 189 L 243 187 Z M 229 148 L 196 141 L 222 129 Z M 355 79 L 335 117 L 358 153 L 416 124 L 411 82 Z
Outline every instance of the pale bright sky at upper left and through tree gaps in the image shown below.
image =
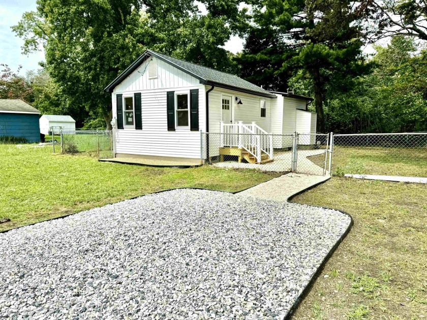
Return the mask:
M 19 74 L 25 75 L 28 70 L 39 69 L 39 61 L 44 61 L 44 52 L 36 52 L 28 56 L 21 54 L 23 40 L 16 37 L 10 28 L 18 23 L 26 11 L 36 10 L 36 0 L 0 0 L 0 63 L 6 63 L 16 71 L 22 66 Z M 203 11 L 203 10 L 202 10 Z M 243 40 L 233 36 L 224 46 L 225 49 L 237 53 L 243 48 Z M 365 48 L 372 53 L 372 48 Z

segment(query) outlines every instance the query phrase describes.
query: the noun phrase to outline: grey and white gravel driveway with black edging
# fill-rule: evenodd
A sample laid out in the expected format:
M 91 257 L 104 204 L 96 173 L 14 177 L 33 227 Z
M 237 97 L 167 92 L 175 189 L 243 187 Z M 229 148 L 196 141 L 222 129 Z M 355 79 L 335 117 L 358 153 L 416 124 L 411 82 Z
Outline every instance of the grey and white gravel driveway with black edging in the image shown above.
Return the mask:
M 0 234 L 0 318 L 283 319 L 349 224 L 194 189 L 41 222 Z

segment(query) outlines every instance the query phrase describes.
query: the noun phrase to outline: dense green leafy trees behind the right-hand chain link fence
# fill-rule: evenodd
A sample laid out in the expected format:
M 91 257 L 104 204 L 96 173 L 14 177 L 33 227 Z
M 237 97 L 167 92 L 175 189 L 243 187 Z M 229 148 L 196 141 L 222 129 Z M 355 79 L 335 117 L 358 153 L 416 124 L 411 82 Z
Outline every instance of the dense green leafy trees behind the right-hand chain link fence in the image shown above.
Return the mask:
M 372 72 L 351 90 L 328 83 L 327 126 L 337 133 L 427 131 L 427 52 L 403 36 L 374 48 Z

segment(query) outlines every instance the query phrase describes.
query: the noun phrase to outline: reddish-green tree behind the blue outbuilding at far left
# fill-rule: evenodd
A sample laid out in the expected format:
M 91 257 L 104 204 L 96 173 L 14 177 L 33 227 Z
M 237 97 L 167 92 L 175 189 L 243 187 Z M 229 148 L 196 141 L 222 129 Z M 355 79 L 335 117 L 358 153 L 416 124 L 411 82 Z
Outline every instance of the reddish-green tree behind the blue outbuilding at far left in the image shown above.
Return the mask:
M 33 90 L 25 78 L 18 75 L 22 67 L 19 66 L 16 73 L 8 65 L 2 64 L 0 67 L 3 68 L 0 73 L 0 99 L 21 99 L 31 103 Z

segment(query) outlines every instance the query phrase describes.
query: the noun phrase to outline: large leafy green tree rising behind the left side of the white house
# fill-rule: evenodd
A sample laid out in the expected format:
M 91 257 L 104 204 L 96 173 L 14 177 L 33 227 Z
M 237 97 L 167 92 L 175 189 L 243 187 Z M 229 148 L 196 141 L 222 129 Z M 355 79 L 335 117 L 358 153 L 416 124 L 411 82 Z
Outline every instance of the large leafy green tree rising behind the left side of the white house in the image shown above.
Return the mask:
M 221 46 L 241 32 L 246 11 L 236 0 L 38 0 L 13 27 L 23 53 L 46 53 L 46 70 L 70 105 L 83 106 L 110 126 L 111 99 L 103 88 L 145 49 L 230 70 Z M 239 18 L 236 18 L 239 17 Z

